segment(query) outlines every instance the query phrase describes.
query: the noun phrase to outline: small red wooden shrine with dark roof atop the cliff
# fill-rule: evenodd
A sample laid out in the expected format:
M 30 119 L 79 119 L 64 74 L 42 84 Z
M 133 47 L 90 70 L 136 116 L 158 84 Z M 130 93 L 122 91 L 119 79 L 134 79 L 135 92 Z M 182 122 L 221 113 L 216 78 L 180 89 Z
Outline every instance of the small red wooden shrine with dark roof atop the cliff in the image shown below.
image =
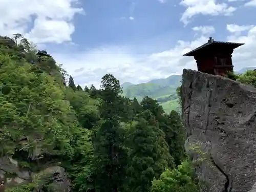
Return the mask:
M 193 56 L 197 61 L 197 69 L 203 73 L 226 76 L 233 72 L 233 50 L 242 46 L 237 42 L 215 41 L 211 37 L 208 42 L 183 56 Z

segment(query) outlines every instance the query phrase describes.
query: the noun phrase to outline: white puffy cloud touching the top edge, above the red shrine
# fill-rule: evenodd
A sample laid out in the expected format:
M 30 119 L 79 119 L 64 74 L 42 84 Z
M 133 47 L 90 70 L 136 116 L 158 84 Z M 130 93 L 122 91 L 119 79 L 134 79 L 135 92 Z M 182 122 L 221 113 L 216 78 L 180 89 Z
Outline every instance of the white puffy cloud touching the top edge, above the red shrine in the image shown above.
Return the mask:
M 181 17 L 184 24 L 187 24 L 188 20 L 197 14 L 231 15 L 236 10 L 225 3 L 218 4 L 216 0 L 182 0 L 180 4 L 186 7 Z

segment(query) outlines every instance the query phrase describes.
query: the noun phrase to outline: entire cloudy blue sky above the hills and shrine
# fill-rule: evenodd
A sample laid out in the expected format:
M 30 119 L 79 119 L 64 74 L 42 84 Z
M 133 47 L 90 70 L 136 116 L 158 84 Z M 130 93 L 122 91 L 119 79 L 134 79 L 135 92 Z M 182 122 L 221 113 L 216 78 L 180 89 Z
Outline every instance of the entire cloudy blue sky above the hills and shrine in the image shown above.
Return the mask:
M 0 34 L 22 33 L 75 83 L 146 82 L 196 69 L 182 54 L 205 42 L 245 43 L 235 70 L 256 66 L 256 0 L 0 0 Z

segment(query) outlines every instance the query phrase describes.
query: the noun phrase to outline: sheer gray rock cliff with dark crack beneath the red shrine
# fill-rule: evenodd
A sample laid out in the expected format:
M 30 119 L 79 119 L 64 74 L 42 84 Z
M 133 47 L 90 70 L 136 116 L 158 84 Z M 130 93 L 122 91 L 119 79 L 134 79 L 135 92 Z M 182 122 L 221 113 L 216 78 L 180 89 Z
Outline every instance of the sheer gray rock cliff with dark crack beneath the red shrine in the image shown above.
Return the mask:
M 256 89 L 222 76 L 184 70 L 186 151 L 201 191 L 256 191 Z

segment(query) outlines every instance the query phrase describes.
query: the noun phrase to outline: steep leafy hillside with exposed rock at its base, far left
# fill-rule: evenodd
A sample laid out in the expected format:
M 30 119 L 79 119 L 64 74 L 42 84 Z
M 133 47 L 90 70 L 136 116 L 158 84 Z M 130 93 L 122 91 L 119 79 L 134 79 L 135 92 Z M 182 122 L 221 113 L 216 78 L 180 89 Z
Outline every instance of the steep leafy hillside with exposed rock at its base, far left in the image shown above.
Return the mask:
M 70 191 L 63 163 L 90 151 L 61 68 L 37 53 L 27 39 L 0 38 L 1 191 Z

